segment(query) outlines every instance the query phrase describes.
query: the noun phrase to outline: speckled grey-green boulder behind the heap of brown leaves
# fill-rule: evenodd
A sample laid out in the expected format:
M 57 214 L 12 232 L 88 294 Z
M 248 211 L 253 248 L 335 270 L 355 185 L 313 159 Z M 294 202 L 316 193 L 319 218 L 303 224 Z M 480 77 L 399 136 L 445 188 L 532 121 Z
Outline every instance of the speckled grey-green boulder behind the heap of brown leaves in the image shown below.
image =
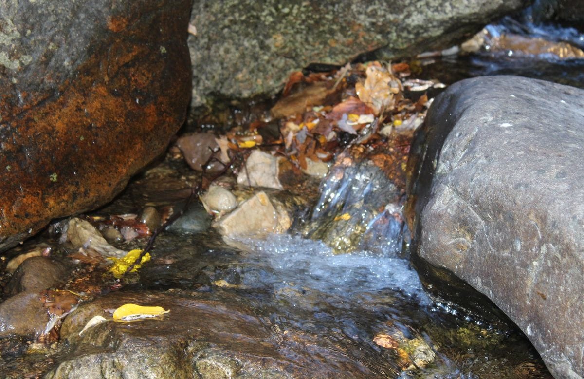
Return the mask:
M 345 64 L 381 47 L 387 58 L 444 49 L 526 3 L 195 1 L 189 36 L 192 106 L 211 96 L 274 94 L 292 71 L 311 63 Z

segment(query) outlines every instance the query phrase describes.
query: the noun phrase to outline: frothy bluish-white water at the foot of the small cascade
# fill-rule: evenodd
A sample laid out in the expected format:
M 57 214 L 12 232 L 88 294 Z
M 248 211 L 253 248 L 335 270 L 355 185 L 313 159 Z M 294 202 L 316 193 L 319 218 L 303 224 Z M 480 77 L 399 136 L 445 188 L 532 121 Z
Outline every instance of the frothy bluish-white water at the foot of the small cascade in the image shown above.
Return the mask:
M 266 240 L 241 242 L 252 252 L 248 259 L 270 266 L 282 285 L 294 282 L 341 297 L 392 290 L 420 304 L 430 304 L 418 274 L 406 259 L 371 251 L 334 254 L 325 243 L 301 236 L 270 235 Z

